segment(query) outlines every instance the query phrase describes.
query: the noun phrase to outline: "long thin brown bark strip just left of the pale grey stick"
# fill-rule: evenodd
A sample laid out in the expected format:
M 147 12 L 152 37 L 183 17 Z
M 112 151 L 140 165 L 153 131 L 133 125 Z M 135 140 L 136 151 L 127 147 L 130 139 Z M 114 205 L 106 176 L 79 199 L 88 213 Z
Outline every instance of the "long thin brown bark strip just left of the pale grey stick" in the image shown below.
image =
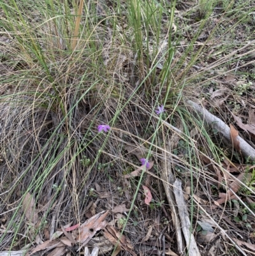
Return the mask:
M 171 187 L 170 187 L 170 184 L 173 185 L 173 182 L 174 182 L 174 180 L 173 180 L 174 176 L 171 171 L 172 170 L 172 167 L 171 167 L 172 161 L 169 160 L 171 148 L 168 143 L 166 143 L 165 146 L 166 146 L 166 151 L 168 151 L 169 154 L 166 154 L 166 152 L 164 152 L 166 160 L 163 161 L 161 164 L 161 166 L 162 166 L 161 179 L 163 179 L 163 181 L 168 182 L 168 183 L 163 182 L 164 192 L 166 192 L 166 198 L 168 200 L 168 204 L 170 205 L 170 209 L 171 209 L 171 218 L 173 220 L 173 226 L 175 227 L 178 252 L 180 255 L 182 255 L 182 253 L 184 251 L 184 245 L 183 245 L 184 243 L 182 241 L 182 230 L 180 229 L 180 220 L 178 217 L 179 213 L 177 211 L 175 197 L 174 197 L 173 191 L 171 190 Z

